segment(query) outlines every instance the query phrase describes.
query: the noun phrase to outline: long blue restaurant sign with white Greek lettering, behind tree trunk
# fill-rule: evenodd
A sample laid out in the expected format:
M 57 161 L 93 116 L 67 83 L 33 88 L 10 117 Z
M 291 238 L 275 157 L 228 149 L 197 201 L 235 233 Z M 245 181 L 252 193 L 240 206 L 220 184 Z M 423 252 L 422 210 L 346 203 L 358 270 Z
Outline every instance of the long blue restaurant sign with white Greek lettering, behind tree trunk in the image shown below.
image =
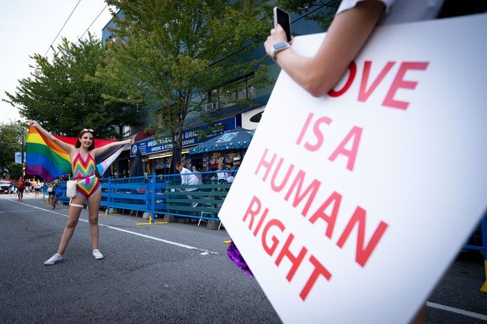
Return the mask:
M 218 131 L 214 131 L 208 137 L 203 140 L 198 139 L 198 130 L 207 130 L 209 126 L 203 125 L 189 130 L 184 130 L 183 132 L 183 142 L 182 147 L 193 146 L 195 144 L 200 144 L 208 139 L 215 136 L 221 135 L 226 130 L 231 130 L 236 127 L 235 117 L 230 117 L 227 119 L 222 119 L 217 121 L 212 125 L 212 127 L 221 126 Z M 171 143 L 170 137 L 166 135 L 161 135 L 159 137 L 154 137 L 151 139 L 144 139 L 143 141 L 136 142 L 130 146 L 130 156 L 136 155 L 137 151 L 140 151 L 142 155 L 148 155 L 153 153 L 159 153 L 164 151 L 169 151 L 173 149 L 173 144 Z

